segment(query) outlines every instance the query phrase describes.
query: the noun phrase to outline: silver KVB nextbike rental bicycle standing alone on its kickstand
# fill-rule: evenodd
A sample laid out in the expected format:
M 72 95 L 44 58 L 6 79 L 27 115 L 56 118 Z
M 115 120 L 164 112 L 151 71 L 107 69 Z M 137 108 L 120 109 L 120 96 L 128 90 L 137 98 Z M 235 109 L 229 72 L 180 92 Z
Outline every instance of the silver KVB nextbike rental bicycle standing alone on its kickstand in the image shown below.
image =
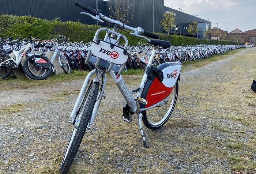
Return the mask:
M 179 79 L 181 70 L 181 62 L 163 63 L 158 67 L 152 65 L 156 50 L 158 48 L 169 48 L 170 42 L 158 40 L 158 35 L 144 31 L 141 27 L 133 28 L 119 20 L 106 17 L 100 10 L 90 8 L 79 1 L 76 1 L 75 4 L 83 10 L 90 12 L 90 14 L 86 12 L 81 12 L 81 14 L 90 16 L 98 22 L 106 20 L 115 26 L 113 30 L 106 28 L 97 30 L 93 42 L 90 45 L 85 64 L 89 62 L 95 63 L 95 69 L 86 76 L 70 115 L 73 129 L 60 164 L 60 173 L 67 173 L 75 158 L 86 129 L 90 128 L 91 124 L 94 122 L 102 97 L 106 97 L 104 94 L 107 82 L 106 72 L 110 73 L 127 102 L 123 107 L 123 120 L 131 122 L 132 115 L 137 114 L 143 144 L 145 147 L 148 147 L 141 121 L 143 121 L 144 125 L 149 129 L 158 129 L 166 123 L 176 104 L 178 96 L 177 79 Z M 126 50 L 128 40 L 123 34 L 118 33 L 117 29 L 133 31 L 133 33 L 130 33 L 131 35 L 146 39 L 148 43 L 153 45 L 153 50 L 144 71 L 142 82 L 135 90 L 129 90 L 121 76 L 121 72 L 128 60 Z M 103 40 L 98 38 L 100 32 L 106 32 Z M 145 36 L 155 39 L 148 39 Z M 125 42 L 123 47 L 118 46 L 121 39 Z M 121 67 L 118 65 L 121 65 Z M 93 76 L 94 78 L 91 80 Z M 137 94 L 137 97 L 133 98 L 132 94 Z

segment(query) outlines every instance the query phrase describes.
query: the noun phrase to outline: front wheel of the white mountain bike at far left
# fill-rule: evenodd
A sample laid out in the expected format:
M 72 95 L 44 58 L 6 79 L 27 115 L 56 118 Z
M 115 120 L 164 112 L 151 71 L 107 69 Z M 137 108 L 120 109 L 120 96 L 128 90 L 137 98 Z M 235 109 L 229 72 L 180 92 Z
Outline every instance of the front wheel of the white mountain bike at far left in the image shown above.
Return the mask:
M 52 63 L 47 57 L 35 54 L 26 58 L 23 71 L 30 79 L 43 80 L 52 73 Z

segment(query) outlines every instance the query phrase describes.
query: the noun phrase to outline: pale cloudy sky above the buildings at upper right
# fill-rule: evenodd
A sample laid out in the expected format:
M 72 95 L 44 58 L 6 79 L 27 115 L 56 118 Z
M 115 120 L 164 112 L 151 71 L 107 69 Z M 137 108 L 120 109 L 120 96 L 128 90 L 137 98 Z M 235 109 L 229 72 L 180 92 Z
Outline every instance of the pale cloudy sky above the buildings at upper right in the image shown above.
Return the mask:
M 256 29 L 256 0 L 165 0 L 165 6 L 199 18 L 210 19 L 212 27 L 228 31 Z

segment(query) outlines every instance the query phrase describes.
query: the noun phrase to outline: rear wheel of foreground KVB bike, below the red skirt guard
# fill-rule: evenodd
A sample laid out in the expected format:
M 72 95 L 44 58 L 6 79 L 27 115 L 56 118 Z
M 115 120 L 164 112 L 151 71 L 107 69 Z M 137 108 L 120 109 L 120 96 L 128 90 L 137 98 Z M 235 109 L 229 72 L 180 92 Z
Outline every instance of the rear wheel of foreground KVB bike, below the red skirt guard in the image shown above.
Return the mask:
M 148 129 L 158 129 L 166 123 L 166 121 L 172 115 L 178 97 L 178 80 L 176 81 L 172 92 L 156 107 L 152 109 L 142 111 L 142 121 Z

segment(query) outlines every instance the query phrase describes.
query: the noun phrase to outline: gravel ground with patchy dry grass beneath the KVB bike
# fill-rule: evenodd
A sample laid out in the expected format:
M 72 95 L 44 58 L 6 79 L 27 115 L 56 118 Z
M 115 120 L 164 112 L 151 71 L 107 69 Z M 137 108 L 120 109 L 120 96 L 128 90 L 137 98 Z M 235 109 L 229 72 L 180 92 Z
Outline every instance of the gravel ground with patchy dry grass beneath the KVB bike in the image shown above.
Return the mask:
M 187 66 L 172 117 L 156 131 L 144 128 L 149 148 L 137 119 L 121 119 L 124 99 L 108 79 L 69 172 L 256 173 L 256 94 L 249 91 L 255 55 L 255 48 L 241 49 L 201 68 Z M 135 88 L 140 77 L 124 79 Z M 82 82 L 0 91 L 0 173 L 58 173 Z

